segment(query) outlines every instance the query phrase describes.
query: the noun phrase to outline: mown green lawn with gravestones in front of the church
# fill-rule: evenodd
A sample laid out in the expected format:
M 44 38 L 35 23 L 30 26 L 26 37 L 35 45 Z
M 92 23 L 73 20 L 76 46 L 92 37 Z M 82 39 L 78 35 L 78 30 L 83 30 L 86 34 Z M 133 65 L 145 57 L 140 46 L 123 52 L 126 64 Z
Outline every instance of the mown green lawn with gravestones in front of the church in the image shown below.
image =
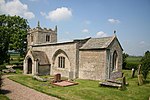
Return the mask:
M 124 70 L 129 85 L 126 90 L 99 87 L 99 81 L 77 79 L 78 85 L 58 87 L 49 82 L 33 80 L 31 76 L 16 75 L 9 77 L 25 86 L 36 89 L 51 96 L 66 100 L 148 100 L 150 97 L 150 75 L 148 82 L 142 86 L 137 85 L 137 77 L 131 79 L 131 71 Z

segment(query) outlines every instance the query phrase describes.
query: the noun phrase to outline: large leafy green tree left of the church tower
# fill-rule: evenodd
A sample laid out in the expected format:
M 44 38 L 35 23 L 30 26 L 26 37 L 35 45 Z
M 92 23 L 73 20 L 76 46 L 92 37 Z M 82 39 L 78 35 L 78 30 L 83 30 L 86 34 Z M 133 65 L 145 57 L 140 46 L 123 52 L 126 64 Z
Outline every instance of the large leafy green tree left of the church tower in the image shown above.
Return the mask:
M 27 29 L 29 28 L 26 19 L 20 16 L 0 15 L 0 63 L 8 58 L 8 49 L 16 50 L 23 56 L 27 46 Z M 6 57 L 5 57 L 6 56 Z

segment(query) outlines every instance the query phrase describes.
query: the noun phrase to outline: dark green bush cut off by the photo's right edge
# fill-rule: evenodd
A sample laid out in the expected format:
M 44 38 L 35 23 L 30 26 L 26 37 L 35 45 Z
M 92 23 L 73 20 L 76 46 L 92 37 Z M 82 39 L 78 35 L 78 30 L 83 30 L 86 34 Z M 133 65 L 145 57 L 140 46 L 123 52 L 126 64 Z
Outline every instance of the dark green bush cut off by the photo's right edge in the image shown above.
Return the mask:
M 144 79 L 146 80 L 147 75 L 150 71 L 150 52 L 146 51 L 145 55 L 141 59 L 141 71 Z

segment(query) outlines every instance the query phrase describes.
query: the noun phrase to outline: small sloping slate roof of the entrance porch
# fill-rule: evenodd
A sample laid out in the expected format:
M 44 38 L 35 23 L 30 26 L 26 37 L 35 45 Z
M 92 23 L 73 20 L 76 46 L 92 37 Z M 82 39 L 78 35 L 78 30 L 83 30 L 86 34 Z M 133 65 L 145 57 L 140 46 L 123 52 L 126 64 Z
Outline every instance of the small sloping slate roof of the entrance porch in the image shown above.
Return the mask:
M 43 51 L 32 51 L 34 60 L 38 60 L 40 65 L 49 65 L 48 57 Z

